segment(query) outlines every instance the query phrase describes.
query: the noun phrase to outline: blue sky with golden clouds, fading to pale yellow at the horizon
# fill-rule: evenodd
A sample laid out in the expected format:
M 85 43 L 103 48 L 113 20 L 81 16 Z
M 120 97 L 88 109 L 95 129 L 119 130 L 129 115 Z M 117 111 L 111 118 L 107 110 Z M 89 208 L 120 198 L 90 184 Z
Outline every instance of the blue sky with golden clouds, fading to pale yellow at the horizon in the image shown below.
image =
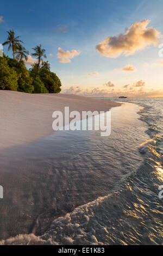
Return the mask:
M 28 68 L 41 44 L 63 93 L 163 96 L 162 9 L 162 0 L 3 1 L 0 44 L 14 29 Z

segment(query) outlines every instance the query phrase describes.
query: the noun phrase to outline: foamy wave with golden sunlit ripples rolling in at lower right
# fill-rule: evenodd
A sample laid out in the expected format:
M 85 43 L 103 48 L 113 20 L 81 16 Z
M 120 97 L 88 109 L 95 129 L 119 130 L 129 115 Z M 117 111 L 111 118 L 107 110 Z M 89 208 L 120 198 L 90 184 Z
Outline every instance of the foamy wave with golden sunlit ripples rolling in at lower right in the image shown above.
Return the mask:
M 146 114 L 143 120 L 148 120 L 149 125 L 149 119 L 152 120 Z M 163 207 L 158 197 L 158 187 L 163 181 L 162 156 L 159 136 L 155 136 L 150 125 L 147 132 L 151 139 L 138 148 L 145 156 L 144 161 L 117 182 L 117 191 L 54 218 L 51 227 L 41 236 L 21 234 L 2 240 L 0 245 L 162 244 Z

